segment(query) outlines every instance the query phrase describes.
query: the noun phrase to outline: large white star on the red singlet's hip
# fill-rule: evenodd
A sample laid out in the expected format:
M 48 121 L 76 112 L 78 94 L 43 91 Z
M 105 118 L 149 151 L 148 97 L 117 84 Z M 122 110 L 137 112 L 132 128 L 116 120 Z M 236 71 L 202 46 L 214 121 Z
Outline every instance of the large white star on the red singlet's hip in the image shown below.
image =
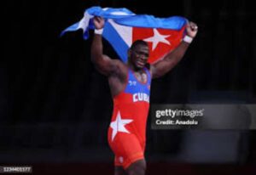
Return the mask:
M 115 137 L 115 135 L 118 132 L 129 133 L 129 131 L 125 128 L 125 125 L 130 123 L 131 121 L 133 121 L 133 120 L 131 120 L 131 119 L 124 119 L 124 120 L 122 120 L 121 119 L 121 115 L 120 115 L 120 111 L 118 112 L 116 120 L 112 121 L 110 123 L 110 127 L 113 129 L 112 141 L 113 141 L 113 138 Z

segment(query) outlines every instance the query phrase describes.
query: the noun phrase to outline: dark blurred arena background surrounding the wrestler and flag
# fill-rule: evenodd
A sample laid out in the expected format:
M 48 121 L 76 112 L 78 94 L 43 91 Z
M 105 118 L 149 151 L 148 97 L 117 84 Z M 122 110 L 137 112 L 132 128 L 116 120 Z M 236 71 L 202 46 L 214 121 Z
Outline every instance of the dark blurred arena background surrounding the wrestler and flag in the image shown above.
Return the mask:
M 74 169 L 89 174 L 98 165 L 105 174 L 113 172 L 107 143 L 113 104 L 107 78 L 91 64 L 91 39 L 84 41 L 82 31 L 60 37 L 83 17 L 85 8 L 99 4 L 158 17 L 181 15 L 198 24 L 198 35 L 183 60 L 153 82 L 151 104 L 255 104 L 253 1 L 4 1 L 0 165 L 32 165 L 34 173 L 43 174 L 72 174 Z M 104 46 L 104 52 L 116 58 L 108 42 Z M 169 174 L 165 168 L 170 165 L 177 165 L 172 174 L 255 170 L 255 131 L 149 126 L 150 120 L 148 174 Z

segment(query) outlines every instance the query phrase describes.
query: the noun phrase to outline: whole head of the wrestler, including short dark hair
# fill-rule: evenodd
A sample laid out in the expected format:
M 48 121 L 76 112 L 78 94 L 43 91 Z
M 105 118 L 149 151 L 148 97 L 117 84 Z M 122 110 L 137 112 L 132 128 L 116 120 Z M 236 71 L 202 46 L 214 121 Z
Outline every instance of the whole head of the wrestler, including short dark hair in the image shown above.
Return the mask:
M 148 63 L 148 43 L 143 40 L 133 42 L 128 50 L 128 61 L 135 69 L 142 69 Z

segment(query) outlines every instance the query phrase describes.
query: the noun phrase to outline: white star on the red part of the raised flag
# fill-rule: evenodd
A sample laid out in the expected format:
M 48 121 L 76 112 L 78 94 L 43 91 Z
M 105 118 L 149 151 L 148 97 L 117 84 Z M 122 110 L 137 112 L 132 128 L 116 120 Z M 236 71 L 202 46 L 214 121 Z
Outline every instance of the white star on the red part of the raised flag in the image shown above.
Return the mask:
M 146 39 L 143 39 L 145 42 L 153 42 L 153 48 L 152 51 L 154 51 L 154 48 L 157 47 L 159 42 L 166 43 L 168 45 L 171 45 L 171 42 L 166 40 L 166 37 L 170 37 L 171 35 L 161 35 L 160 32 L 158 32 L 156 29 L 154 31 L 154 36 L 153 37 L 148 37 Z

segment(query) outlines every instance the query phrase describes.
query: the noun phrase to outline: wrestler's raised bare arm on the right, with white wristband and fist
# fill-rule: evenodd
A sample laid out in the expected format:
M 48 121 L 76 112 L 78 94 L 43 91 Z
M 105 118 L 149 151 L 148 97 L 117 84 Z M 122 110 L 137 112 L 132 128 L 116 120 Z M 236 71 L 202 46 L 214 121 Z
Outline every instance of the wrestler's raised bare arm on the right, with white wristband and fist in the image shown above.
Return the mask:
M 174 49 L 172 52 L 166 54 L 166 56 L 155 64 L 151 65 L 151 72 L 153 78 L 164 76 L 168 71 L 177 65 L 177 63 L 183 58 L 186 50 L 189 48 L 189 43 L 197 33 L 197 25 L 193 22 L 189 22 L 187 27 L 187 36 L 183 38 L 183 42 Z

